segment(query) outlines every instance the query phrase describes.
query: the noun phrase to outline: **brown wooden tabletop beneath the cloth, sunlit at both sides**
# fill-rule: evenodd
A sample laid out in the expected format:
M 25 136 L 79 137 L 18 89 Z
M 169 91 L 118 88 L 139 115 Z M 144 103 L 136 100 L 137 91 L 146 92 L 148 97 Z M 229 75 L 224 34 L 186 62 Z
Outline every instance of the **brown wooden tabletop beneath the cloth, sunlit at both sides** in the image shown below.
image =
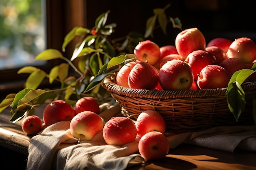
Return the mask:
M 8 111 L 0 113 L 0 146 L 27 155 L 30 137 L 20 123 L 9 122 Z M 164 159 L 148 161 L 127 170 L 256 170 L 256 152 L 234 153 L 182 144 L 171 149 Z

